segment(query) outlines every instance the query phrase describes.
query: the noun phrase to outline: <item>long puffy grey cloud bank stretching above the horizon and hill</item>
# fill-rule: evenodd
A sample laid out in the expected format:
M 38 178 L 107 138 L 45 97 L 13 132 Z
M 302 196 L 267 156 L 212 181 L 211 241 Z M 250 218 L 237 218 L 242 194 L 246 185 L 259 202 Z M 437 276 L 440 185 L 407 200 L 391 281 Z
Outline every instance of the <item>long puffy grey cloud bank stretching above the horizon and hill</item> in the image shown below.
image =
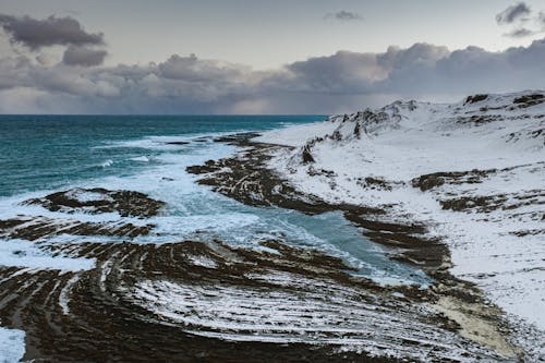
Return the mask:
M 88 59 L 88 57 L 83 57 Z M 543 88 L 545 39 L 493 52 L 415 44 L 384 52 L 339 51 L 268 71 L 173 55 L 117 66 L 47 65 L 0 58 L 0 112 L 330 113 L 398 98 Z

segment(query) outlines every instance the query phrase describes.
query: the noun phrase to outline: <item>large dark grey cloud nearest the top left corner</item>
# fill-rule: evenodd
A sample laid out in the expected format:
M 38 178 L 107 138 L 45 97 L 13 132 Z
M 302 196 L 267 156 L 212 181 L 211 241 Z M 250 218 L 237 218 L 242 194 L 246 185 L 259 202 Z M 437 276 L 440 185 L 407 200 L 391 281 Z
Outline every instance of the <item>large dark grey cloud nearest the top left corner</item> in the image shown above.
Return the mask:
M 73 17 L 56 17 L 45 20 L 31 16 L 12 16 L 0 14 L 0 26 L 10 37 L 12 44 L 22 44 L 31 50 L 55 45 L 104 45 L 101 33 L 87 33 Z

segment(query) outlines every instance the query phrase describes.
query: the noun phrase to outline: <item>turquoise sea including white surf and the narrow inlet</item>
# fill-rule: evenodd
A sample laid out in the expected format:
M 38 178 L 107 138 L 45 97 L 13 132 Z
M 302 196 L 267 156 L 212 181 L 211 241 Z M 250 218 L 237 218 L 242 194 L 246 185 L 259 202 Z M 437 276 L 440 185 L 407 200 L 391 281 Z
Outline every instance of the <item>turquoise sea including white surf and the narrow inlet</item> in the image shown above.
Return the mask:
M 134 243 L 220 238 L 258 249 L 259 241 L 276 238 L 340 256 L 358 274 L 379 282 L 427 281 L 422 271 L 390 261 L 384 247 L 367 241 L 341 214 L 306 216 L 250 207 L 197 185 L 196 177 L 185 172 L 186 166 L 235 150 L 215 143 L 215 136 L 322 120 L 323 116 L 0 116 L 0 219 L 17 214 L 63 218 L 21 202 L 69 187 L 135 190 L 165 201 L 167 207 L 145 221 L 157 225 L 154 232 Z M 71 217 L 113 222 L 120 218 L 111 214 Z M 81 238 L 56 240 L 50 242 Z

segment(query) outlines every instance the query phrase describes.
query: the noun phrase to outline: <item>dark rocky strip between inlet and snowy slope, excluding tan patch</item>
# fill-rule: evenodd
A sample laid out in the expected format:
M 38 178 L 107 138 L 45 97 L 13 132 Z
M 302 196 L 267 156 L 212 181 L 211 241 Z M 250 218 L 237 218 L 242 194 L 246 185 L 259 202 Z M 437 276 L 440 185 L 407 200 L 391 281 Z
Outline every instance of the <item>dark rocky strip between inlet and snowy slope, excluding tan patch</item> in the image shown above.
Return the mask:
M 393 223 L 380 220 L 384 209 L 352 204 L 330 204 L 315 195 L 298 192 L 275 171 L 266 167 L 271 152 L 290 146 L 252 142 L 255 133 L 219 137 L 242 148 L 231 157 L 208 160 L 203 166 L 191 166 L 187 172 L 197 174 L 197 183 L 211 186 L 215 192 L 253 206 L 278 206 L 305 214 L 341 211 L 344 218 L 364 229 L 363 235 L 389 247 L 390 257 L 423 268 L 431 275 L 441 274 L 450 266 L 448 246 L 438 240 L 425 238 L 424 225 Z

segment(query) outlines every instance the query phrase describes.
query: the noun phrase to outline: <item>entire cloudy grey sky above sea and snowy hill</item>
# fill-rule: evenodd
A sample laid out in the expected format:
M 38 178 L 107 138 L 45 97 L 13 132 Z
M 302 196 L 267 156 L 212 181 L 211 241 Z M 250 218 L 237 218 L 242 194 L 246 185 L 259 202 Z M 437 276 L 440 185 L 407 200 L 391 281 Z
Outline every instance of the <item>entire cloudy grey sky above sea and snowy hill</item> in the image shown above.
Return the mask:
M 1 113 L 331 113 L 543 88 L 543 1 L 0 0 Z

